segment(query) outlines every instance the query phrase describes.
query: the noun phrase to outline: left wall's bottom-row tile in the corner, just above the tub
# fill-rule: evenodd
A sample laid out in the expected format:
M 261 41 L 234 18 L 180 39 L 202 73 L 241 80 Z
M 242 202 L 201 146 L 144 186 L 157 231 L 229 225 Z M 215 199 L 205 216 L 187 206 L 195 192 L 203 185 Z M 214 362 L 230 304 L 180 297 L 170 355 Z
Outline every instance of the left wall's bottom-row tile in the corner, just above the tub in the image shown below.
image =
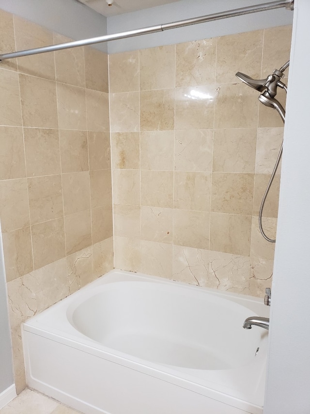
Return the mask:
M 98 278 L 113 269 L 113 237 L 93 244 L 93 277 Z

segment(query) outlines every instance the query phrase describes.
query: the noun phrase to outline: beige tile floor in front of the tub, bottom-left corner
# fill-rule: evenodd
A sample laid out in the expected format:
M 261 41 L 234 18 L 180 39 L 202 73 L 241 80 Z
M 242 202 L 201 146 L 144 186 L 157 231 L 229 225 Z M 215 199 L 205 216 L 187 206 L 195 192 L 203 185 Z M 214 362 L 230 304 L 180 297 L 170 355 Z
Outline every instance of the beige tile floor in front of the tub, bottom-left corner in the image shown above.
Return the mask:
M 25 389 L 0 414 L 79 414 L 51 398 Z

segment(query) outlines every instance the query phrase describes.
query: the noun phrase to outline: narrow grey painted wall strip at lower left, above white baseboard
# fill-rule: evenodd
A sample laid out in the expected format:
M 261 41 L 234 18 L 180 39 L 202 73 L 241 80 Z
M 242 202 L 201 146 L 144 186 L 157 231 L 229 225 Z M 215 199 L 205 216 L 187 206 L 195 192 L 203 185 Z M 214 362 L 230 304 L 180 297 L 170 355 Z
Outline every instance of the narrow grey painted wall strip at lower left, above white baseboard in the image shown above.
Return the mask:
M 4 257 L 0 229 L 0 395 L 14 384 Z M 0 401 L 1 408 L 1 401 Z

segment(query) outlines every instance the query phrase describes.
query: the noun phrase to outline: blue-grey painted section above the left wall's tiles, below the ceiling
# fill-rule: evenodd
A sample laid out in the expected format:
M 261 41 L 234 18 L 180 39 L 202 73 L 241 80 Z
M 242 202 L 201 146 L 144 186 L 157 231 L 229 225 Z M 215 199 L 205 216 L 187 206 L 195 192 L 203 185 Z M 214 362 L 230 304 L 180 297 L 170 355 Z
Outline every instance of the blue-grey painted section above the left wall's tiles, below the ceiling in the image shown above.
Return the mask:
M 107 18 L 75 0 L 0 0 L 0 8 L 74 40 L 107 34 Z

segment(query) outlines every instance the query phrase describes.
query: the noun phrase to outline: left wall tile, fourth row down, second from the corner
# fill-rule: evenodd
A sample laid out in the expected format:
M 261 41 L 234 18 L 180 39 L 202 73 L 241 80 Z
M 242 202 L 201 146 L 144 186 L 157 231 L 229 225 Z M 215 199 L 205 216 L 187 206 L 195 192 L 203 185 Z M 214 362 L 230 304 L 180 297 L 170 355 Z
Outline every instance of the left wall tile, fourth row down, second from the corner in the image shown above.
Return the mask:
M 88 171 L 62 174 L 64 214 L 90 210 L 90 177 Z

